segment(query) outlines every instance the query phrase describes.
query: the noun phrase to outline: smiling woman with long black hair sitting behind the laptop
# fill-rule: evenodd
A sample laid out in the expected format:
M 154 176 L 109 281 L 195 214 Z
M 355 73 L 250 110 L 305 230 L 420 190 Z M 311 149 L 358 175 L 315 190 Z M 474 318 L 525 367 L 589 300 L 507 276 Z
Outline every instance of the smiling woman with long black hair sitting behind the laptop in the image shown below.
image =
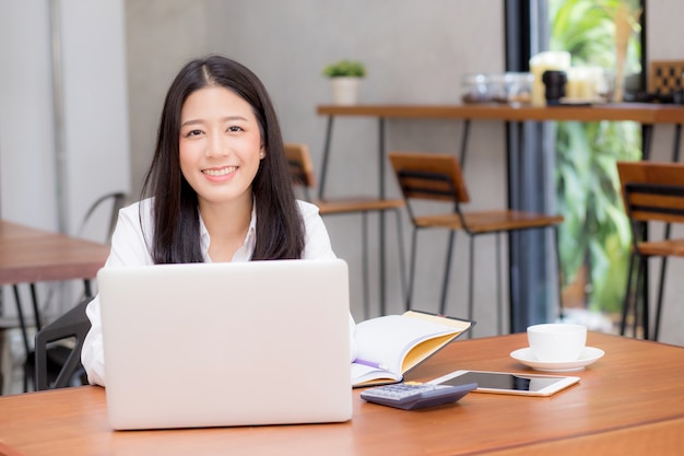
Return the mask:
M 225 57 L 192 60 L 172 83 L 142 195 L 119 212 L 105 267 L 334 258 L 318 208 L 295 200 L 263 84 Z M 104 386 L 97 297 L 87 316 L 81 360 Z

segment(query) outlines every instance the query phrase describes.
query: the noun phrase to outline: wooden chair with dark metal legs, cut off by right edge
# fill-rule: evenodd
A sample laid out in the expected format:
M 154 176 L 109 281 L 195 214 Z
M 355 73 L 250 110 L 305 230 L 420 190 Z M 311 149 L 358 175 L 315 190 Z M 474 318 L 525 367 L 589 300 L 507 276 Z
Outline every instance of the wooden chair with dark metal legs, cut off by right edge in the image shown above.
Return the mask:
M 653 162 L 617 162 L 617 173 L 622 186 L 625 211 L 632 226 L 632 252 L 627 273 L 627 290 L 622 309 L 620 332 L 625 334 L 627 313 L 634 303 L 634 334 L 638 325 L 639 296 L 646 281 L 646 264 L 649 258 L 661 257 L 660 280 L 656 303 L 656 325 L 653 340 L 658 340 L 664 290 L 664 272 L 668 257 L 684 257 L 684 238 L 670 238 L 672 223 L 684 223 L 684 164 Z M 665 223 L 661 241 L 648 241 L 645 235 L 648 222 Z M 634 262 L 638 260 L 636 278 L 633 277 Z M 634 279 L 634 280 L 633 280 Z M 636 294 L 633 288 L 636 284 Z M 644 338 L 649 339 L 649 305 L 645 297 L 640 306 Z

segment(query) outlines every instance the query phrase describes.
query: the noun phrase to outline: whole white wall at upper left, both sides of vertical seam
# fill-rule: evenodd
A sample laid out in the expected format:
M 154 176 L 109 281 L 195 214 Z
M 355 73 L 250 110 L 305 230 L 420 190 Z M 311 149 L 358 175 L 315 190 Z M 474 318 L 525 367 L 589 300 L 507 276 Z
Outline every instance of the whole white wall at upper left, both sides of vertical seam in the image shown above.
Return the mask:
M 0 56 L 0 213 L 73 234 L 129 187 L 123 2 L 2 0 Z

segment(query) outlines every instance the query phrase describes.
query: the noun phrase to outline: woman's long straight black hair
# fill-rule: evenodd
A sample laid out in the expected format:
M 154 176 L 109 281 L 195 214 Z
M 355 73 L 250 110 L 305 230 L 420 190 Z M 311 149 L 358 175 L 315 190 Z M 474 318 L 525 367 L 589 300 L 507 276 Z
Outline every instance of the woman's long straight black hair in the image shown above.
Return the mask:
M 222 56 L 188 62 L 168 89 L 160 120 L 156 148 L 142 196 L 153 197 L 155 264 L 202 262 L 199 203 L 180 171 L 180 110 L 194 91 L 222 86 L 251 106 L 266 156 L 252 182 L 257 239 L 252 260 L 298 259 L 304 250 L 304 225 L 292 190 L 283 139 L 271 98 L 255 73 Z

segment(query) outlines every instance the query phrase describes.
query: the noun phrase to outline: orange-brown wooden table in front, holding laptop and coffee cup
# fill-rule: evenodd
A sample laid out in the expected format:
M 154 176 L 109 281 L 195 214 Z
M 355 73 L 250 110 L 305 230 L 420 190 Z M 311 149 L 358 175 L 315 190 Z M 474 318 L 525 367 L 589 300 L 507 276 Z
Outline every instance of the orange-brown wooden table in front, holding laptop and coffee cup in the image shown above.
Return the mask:
M 115 432 L 104 389 L 86 386 L 0 398 L 0 441 L 27 456 L 680 454 L 684 348 L 593 332 L 588 343 L 605 356 L 549 398 L 471 393 L 403 411 L 367 404 L 356 389 L 346 423 Z M 458 369 L 529 372 L 509 358 L 524 346 L 522 334 L 459 340 L 408 379 Z

